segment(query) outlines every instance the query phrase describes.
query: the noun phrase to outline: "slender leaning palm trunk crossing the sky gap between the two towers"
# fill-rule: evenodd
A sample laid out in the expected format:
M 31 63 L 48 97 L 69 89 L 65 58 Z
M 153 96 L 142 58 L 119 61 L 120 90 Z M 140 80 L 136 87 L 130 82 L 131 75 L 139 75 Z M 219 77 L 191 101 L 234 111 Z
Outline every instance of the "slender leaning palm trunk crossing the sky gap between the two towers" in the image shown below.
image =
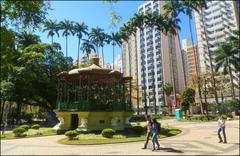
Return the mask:
M 192 33 L 192 24 L 191 24 L 190 15 L 188 16 L 188 21 L 189 21 L 191 40 L 192 40 L 192 44 L 193 44 L 193 33 Z M 197 64 L 197 58 L 196 58 L 197 53 L 196 53 L 196 49 L 194 47 L 194 44 L 193 44 L 193 56 L 194 56 L 195 70 L 196 70 L 196 75 L 197 75 L 197 87 L 198 87 L 198 94 L 199 94 L 199 100 L 200 100 L 201 114 L 203 114 L 202 92 L 201 92 L 201 87 L 200 87 L 200 77 L 199 77 L 198 64 Z

